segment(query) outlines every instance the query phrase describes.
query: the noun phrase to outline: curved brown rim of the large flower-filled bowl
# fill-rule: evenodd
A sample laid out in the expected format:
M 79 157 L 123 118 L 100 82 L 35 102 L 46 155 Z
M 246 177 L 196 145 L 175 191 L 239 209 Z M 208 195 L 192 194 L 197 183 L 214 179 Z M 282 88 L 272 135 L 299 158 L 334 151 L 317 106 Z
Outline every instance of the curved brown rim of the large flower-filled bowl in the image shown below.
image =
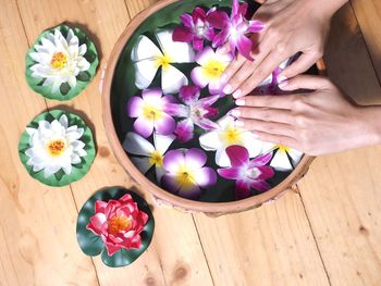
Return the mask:
M 102 83 L 102 119 L 103 126 L 107 130 L 107 137 L 110 142 L 111 149 L 116 157 L 116 160 L 122 165 L 122 167 L 128 173 L 131 178 L 142 185 L 144 188 L 153 196 L 153 198 L 161 200 L 164 204 L 169 204 L 173 208 L 179 208 L 187 211 L 197 211 L 205 213 L 231 213 L 239 212 L 247 209 L 255 208 L 262 204 L 263 202 L 271 201 L 276 199 L 286 190 L 291 189 L 292 186 L 307 172 L 309 165 L 314 161 L 315 157 L 304 156 L 294 169 L 294 171 L 280 184 L 275 187 L 243 200 L 229 201 L 229 202 L 205 202 L 205 201 L 195 201 L 186 198 L 182 198 L 174 194 L 169 192 L 157 186 L 155 183 L 150 182 L 130 160 L 128 156 L 125 153 L 122 145 L 116 135 L 116 130 L 112 120 L 111 113 L 111 87 L 112 80 L 114 77 L 114 72 L 116 64 L 119 62 L 120 55 L 130 40 L 136 28 L 142 24 L 144 20 L 149 17 L 151 14 L 161 10 L 162 8 L 176 2 L 177 0 L 161 0 L 153 5 L 147 8 L 137 14 L 125 27 L 122 35 L 114 45 L 109 60 L 105 70 L 105 77 Z M 317 62 L 317 67 L 319 74 L 325 74 L 325 65 L 322 59 Z

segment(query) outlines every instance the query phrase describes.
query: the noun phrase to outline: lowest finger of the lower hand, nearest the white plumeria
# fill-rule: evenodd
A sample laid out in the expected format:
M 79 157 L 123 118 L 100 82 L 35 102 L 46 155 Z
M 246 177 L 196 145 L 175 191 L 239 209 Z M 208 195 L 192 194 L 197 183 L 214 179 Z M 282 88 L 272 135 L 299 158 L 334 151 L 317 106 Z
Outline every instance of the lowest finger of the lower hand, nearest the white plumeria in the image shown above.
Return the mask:
M 253 130 L 254 133 L 263 132 L 288 137 L 293 137 L 295 133 L 292 125 L 279 122 L 239 119 L 237 124 L 243 125 L 245 129 Z

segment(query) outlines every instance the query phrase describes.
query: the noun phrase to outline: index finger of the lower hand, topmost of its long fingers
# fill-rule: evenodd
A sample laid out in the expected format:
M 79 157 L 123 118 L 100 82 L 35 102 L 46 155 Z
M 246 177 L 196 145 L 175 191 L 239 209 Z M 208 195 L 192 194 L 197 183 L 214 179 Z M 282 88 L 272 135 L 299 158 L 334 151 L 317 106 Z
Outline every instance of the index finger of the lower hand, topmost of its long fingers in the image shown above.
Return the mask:
M 235 100 L 238 107 L 272 108 L 292 110 L 299 95 L 247 96 Z

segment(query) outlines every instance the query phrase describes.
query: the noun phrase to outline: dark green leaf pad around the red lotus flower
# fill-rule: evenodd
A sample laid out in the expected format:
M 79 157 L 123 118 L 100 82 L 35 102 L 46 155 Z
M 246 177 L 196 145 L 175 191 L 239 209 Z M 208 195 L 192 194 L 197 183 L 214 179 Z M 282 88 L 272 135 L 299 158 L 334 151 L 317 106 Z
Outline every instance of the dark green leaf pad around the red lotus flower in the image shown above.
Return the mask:
M 142 237 L 142 247 L 139 249 L 121 249 L 113 256 L 108 256 L 106 246 L 100 236 L 94 234 L 87 229 L 86 226 L 90 221 L 90 217 L 95 214 L 95 202 L 97 200 L 109 201 L 110 199 L 118 200 L 124 195 L 130 194 L 133 200 L 137 203 L 140 211 L 148 214 L 148 221 L 145 225 Z M 148 203 L 135 192 L 125 188 L 112 187 L 105 190 L 100 190 L 93 195 L 82 207 L 78 213 L 78 220 L 76 224 L 76 237 L 82 251 L 89 257 L 95 257 L 101 253 L 101 260 L 110 268 L 121 268 L 134 262 L 149 246 L 155 228 L 153 215 L 149 209 Z

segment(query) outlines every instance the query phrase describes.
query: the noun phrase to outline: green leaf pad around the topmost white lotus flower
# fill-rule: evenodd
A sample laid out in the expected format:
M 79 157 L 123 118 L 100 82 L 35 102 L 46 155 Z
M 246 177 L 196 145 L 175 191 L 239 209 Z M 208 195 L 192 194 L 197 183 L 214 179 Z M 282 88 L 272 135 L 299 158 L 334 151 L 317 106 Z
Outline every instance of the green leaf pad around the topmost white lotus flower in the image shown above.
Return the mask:
M 62 33 L 63 37 L 66 38 L 70 28 L 72 28 L 75 36 L 78 37 L 79 46 L 83 43 L 86 43 L 87 51 L 84 58 L 90 63 L 90 67 L 85 72 L 81 72 L 76 76 L 77 84 L 74 88 L 71 88 L 69 84 L 65 83 L 65 84 L 62 84 L 61 87 L 56 92 L 52 92 L 51 90 L 52 86 L 42 86 L 45 78 L 32 76 L 33 72 L 30 71 L 30 66 L 33 66 L 36 62 L 30 58 L 29 53 L 36 51 L 35 46 L 39 45 L 41 42 L 41 38 L 46 37 L 49 33 L 53 33 L 54 29 L 59 29 Z M 99 63 L 99 60 L 98 60 L 97 49 L 94 42 L 86 36 L 86 34 L 82 29 L 77 27 L 69 27 L 66 25 L 59 25 L 54 28 L 50 28 L 42 32 L 38 36 L 35 43 L 32 46 L 32 48 L 27 51 L 25 57 L 25 64 L 26 64 L 25 78 L 29 87 L 36 92 L 40 94 L 42 97 L 59 100 L 59 101 L 65 101 L 76 97 L 77 95 L 81 94 L 82 90 L 84 90 L 87 87 L 87 85 L 91 82 L 91 79 L 96 74 L 98 63 Z

